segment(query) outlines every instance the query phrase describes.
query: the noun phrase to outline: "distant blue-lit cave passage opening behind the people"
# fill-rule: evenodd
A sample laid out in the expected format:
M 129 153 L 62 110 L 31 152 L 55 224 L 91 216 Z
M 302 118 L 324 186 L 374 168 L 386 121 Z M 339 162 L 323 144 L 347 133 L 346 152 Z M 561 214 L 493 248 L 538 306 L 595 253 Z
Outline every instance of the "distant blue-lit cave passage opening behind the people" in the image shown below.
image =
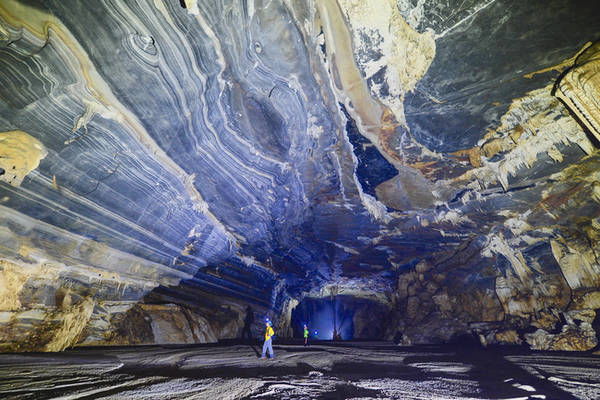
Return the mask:
M 311 339 L 382 340 L 389 309 L 372 300 L 353 296 L 306 297 L 292 310 L 294 337 L 302 337 L 304 324 Z

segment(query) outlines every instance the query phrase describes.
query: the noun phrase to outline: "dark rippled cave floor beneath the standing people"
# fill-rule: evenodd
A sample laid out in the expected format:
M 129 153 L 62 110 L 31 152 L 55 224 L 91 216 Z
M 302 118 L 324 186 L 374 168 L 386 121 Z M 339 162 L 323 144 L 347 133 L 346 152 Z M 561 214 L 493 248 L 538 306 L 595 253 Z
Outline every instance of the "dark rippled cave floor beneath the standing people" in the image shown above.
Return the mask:
M 600 399 L 600 356 L 342 342 L 0 355 L 2 399 Z

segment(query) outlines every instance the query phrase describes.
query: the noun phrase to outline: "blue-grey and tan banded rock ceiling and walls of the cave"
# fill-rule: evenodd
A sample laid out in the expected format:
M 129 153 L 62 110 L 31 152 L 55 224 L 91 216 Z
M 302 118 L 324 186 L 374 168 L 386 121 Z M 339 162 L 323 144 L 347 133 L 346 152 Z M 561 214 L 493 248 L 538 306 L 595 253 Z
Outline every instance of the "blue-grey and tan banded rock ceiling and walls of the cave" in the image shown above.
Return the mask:
M 593 349 L 599 38 L 592 0 L 2 0 L 0 351 L 332 304 Z

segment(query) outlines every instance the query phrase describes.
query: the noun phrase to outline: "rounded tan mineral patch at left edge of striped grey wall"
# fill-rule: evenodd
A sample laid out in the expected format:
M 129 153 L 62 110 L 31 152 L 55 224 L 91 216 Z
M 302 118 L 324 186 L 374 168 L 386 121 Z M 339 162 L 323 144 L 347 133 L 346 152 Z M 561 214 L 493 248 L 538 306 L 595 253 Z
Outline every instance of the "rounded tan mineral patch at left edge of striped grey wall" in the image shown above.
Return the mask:
M 47 154 L 44 145 L 26 132 L 0 132 L 0 180 L 21 185 Z

